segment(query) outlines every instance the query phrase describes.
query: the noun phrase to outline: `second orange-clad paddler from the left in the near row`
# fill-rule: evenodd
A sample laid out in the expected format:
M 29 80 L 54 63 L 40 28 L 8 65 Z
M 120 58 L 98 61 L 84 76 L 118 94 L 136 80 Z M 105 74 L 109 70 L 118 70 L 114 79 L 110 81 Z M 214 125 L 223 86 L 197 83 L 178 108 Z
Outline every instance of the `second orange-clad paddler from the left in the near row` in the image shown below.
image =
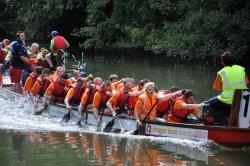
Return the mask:
M 33 85 L 31 91 L 30 91 L 30 95 L 34 96 L 34 97 L 39 97 L 39 96 L 43 96 L 46 89 L 49 87 L 51 80 L 49 79 L 49 73 L 50 70 L 45 68 L 42 71 L 42 75 L 40 75 L 35 84 Z

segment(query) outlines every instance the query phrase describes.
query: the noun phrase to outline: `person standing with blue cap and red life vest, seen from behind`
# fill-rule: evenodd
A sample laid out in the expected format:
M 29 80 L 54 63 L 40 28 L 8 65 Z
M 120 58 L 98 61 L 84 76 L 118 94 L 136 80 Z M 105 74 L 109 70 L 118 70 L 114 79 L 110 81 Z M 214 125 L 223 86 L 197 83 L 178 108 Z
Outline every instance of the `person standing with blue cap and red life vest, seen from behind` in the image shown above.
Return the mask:
M 69 47 L 67 40 L 60 36 L 57 31 L 51 32 L 52 39 L 50 41 L 51 59 L 53 66 L 62 66 L 63 52 Z M 56 60 L 56 63 L 55 63 Z

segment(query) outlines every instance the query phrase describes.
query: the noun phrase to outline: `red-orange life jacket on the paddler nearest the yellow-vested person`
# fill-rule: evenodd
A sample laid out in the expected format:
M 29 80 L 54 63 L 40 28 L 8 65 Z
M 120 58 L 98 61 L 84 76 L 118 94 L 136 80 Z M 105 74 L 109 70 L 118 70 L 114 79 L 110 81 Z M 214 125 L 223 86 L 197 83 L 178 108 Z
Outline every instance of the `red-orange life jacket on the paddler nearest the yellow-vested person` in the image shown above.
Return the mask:
M 188 109 L 175 109 L 174 105 L 177 100 L 183 101 L 183 98 L 178 98 L 174 101 L 172 108 L 171 108 L 171 115 L 169 116 L 169 118 L 175 122 L 182 123 L 189 115 L 189 110 Z

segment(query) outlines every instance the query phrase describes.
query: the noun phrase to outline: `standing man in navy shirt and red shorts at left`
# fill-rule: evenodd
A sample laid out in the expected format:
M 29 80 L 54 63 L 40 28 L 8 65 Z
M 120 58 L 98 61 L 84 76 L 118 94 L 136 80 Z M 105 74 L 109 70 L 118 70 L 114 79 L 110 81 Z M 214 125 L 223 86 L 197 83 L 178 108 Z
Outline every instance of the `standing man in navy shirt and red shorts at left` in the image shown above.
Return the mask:
M 25 45 L 25 34 L 22 31 L 17 32 L 17 41 L 13 43 L 11 50 L 11 67 L 10 67 L 10 79 L 14 83 L 13 91 L 17 93 L 21 92 L 21 75 L 24 69 L 29 66 L 27 47 Z

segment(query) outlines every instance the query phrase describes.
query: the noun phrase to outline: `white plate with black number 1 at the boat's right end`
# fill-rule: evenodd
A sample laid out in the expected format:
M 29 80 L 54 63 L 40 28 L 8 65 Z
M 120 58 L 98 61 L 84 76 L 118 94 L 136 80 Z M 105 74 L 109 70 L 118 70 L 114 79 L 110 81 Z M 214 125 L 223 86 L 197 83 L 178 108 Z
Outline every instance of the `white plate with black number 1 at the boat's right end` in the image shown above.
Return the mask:
M 241 101 L 240 101 L 240 110 L 239 110 L 239 120 L 238 126 L 240 128 L 250 128 L 250 91 L 243 90 Z

